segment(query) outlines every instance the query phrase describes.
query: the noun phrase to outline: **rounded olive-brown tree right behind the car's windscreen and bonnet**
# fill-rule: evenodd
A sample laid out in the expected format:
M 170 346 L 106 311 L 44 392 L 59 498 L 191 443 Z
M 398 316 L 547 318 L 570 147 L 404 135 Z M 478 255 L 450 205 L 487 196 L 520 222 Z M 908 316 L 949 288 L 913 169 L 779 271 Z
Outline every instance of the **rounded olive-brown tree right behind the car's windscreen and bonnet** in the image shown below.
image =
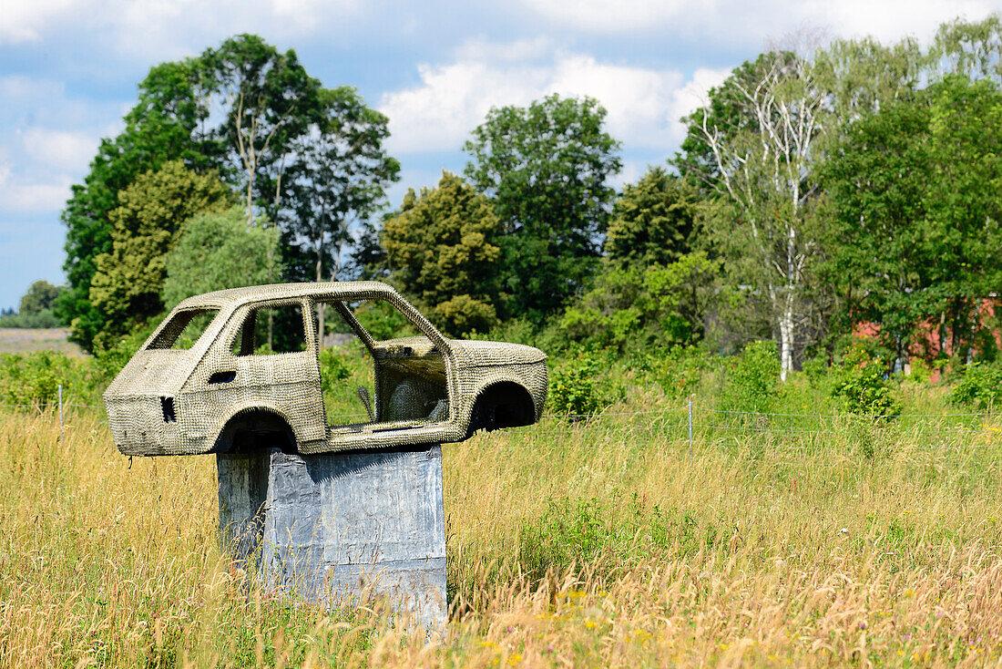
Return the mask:
M 381 235 L 393 280 L 450 334 L 497 323 L 501 224 L 490 201 L 443 173 L 436 189 L 407 192 Z

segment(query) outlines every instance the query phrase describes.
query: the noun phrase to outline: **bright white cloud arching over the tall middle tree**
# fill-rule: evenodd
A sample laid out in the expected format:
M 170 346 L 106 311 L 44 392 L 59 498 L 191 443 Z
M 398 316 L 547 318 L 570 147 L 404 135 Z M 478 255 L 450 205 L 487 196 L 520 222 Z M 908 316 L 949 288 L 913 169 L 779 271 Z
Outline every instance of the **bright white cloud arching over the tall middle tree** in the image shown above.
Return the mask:
M 524 57 L 495 58 L 496 53 Z M 690 80 L 674 69 L 604 63 L 538 44 L 461 47 L 445 65 L 422 64 L 421 83 L 385 93 L 394 151 L 455 150 L 492 106 L 524 105 L 550 93 L 588 95 L 608 110 L 609 132 L 637 148 L 667 149 L 684 136 L 678 119 L 694 109 L 726 70 L 700 69 Z

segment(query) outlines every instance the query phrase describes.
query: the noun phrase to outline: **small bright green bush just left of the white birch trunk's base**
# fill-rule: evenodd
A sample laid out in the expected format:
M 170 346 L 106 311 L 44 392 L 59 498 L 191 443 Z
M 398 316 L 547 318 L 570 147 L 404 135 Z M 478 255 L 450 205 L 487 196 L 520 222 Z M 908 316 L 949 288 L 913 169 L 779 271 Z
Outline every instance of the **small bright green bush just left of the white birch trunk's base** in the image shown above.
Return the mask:
M 779 381 L 776 342 L 752 342 L 727 364 L 720 407 L 740 413 L 769 413 L 781 394 Z

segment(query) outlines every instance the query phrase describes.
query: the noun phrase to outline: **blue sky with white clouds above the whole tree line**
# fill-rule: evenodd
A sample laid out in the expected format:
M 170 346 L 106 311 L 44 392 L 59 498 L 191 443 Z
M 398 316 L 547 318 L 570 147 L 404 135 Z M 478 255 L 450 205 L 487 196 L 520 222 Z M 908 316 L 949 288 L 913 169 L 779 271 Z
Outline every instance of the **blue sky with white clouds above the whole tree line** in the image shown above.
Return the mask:
M 729 70 L 801 29 L 928 42 L 1002 0 L 0 0 L 0 308 L 64 280 L 59 214 L 152 65 L 252 32 L 390 119 L 389 193 L 462 172 L 492 106 L 590 95 L 622 142 L 615 185 L 663 163 L 678 119 Z

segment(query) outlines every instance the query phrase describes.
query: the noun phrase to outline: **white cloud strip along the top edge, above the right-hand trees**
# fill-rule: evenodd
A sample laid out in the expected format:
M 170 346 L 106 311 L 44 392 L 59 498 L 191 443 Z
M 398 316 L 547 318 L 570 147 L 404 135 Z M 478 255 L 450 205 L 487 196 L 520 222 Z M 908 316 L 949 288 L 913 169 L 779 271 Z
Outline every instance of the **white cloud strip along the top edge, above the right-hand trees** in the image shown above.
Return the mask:
M 943 21 L 981 18 L 1002 9 L 998 0 L 519 0 L 555 26 L 598 34 L 666 34 L 760 43 L 804 24 L 837 35 L 873 35 L 882 40 L 928 38 Z

